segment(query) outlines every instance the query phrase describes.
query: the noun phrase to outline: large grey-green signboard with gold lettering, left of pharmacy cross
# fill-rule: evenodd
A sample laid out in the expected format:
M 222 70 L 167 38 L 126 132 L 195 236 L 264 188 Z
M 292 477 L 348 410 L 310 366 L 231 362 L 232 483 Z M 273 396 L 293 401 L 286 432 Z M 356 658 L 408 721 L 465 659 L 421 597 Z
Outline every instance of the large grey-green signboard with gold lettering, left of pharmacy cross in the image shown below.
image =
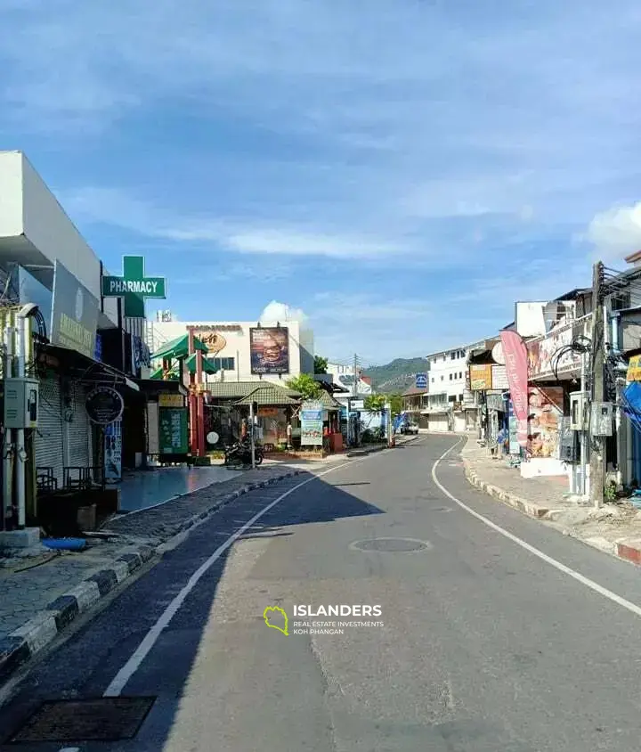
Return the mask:
M 95 356 L 98 299 L 56 259 L 53 273 L 52 345 Z

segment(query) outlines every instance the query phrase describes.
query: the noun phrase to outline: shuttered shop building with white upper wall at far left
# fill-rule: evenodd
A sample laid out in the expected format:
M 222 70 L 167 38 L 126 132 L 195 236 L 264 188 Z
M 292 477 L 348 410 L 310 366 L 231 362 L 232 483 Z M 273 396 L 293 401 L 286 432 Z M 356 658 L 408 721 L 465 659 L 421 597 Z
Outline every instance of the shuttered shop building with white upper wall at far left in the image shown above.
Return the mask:
M 26 453 L 20 452 L 21 429 L 3 426 L 9 456 L 24 457 L 2 465 L 4 527 L 13 526 L 13 511 L 20 511 L 21 473 L 33 520 L 42 508 L 55 511 L 63 495 L 104 490 L 123 466 L 144 462 L 140 405 L 150 373 L 145 327 L 139 317 L 126 315 L 123 300 L 103 295 L 105 276 L 100 259 L 24 154 L 0 152 L 4 347 L 16 352 L 17 312 L 33 304 L 24 365 L 37 382 L 37 419 L 24 431 Z M 15 357 L 5 358 L 4 379 L 19 365 Z M 91 420 L 88 405 L 97 404 L 96 395 L 109 395 L 122 407 L 118 420 Z

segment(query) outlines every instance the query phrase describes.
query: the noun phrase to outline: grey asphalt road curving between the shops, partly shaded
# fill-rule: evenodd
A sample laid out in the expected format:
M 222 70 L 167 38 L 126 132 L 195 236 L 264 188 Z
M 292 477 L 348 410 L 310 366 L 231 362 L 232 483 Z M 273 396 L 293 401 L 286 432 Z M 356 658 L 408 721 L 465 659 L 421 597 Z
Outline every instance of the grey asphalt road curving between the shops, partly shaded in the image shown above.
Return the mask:
M 637 752 L 638 569 L 476 492 L 458 448 L 436 469 L 443 493 L 432 470 L 455 443 L 421 437 L 241 497 L 0 709 L 6 740 L 45 699 L 155 698 L 134 739 L 0 752 Z M 367 624 L 296 633 L 350 621 Z

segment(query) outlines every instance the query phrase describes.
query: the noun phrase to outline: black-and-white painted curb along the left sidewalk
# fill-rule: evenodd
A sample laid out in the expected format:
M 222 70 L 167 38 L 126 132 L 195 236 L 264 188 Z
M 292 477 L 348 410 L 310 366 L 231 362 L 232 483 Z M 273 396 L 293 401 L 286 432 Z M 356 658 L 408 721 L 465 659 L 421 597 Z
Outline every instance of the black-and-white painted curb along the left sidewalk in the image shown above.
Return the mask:
M 164 541 L 158 541 L 153 545 L 127 546 L 121 552 L 118 552 L 118 556 L 110 562 L 108 567 L 87 577 L 76 587 L 49 603 L 45 610 L 37 613 L 35 617 L 29 619 L 28 622 L 15 629 L 7 637 L 0 638 L 0 686 L 20 666 L 23 666 L 40 650 L 53 642 L 77 617 L 92 609 L 98 601 L 115 590 L 118 585 L 131 578 L 143 564 L 153 559 L 158 553 L 158 548 L 167 539 L 191 529 L 221 507 L 238 499 L 239 496 L 248 494 L 250 491 L 256 491 L 258 488 L 272 486 L 280 480 L 293 478 L 300 473 L 301 470 L 288 470 L 272 478 L 248 483 L 246 486 L 231 492 L 231 494 L 216 499 L 207 510 L 164 530 Z

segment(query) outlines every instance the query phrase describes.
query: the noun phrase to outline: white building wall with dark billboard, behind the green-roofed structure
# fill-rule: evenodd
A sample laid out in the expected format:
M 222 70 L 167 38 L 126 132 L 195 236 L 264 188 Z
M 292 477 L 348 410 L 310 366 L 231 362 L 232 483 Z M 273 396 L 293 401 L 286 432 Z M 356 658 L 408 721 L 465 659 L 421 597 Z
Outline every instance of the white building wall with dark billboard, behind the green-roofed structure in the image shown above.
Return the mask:
M 170 312 L 158 311 L 156 321 L 147 323 L 152 356 L 190 327 L 207 346 L 207 360 L 218 369 L 207 380 L 284 383 L 314 372 L 313 332 L 298 321 L 178 321 Z

